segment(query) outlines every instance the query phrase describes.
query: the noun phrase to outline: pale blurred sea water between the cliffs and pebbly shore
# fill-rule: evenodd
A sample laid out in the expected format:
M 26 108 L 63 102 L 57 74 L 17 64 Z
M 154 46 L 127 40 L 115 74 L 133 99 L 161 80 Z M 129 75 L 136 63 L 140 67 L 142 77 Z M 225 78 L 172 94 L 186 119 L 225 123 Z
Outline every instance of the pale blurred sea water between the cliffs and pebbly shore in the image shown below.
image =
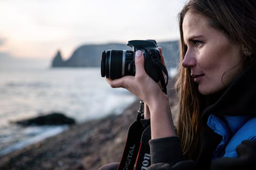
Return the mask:
M 51 68 L 49 60 L 0 58 L 0 156 L 69 128 L 14 121 L 60 112 L 83 123 L 121 114 L 136 99 L 111 88 L 100 68 Z

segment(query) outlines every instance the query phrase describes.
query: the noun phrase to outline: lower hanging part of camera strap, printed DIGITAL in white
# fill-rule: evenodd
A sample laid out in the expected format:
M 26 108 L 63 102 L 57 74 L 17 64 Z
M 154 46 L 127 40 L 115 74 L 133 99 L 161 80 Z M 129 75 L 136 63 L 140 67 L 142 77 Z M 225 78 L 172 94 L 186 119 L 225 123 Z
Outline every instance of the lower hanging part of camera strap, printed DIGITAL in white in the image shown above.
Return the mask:
M 117 170 L 146 170 L 150 166 L 151 139 L 150 120 L 141 121 L 144 113 L 144 102 L 138 110 L 137 120 L 128 130 L 124 150 Z

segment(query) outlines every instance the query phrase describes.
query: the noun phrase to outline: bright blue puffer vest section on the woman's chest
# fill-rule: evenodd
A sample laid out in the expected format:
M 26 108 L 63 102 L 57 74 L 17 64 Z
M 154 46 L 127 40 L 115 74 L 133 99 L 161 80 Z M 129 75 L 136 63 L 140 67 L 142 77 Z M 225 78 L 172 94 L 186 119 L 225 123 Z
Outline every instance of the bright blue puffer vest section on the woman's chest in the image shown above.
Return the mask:
M 207 125 L 218 135 L 222 141 L 214 152 L 213 159 L 220 157 L 237 157 L 236 147 L 243 140 L 256 141 L 256 117 L 224 116 L 224 121 L 211 114 Z

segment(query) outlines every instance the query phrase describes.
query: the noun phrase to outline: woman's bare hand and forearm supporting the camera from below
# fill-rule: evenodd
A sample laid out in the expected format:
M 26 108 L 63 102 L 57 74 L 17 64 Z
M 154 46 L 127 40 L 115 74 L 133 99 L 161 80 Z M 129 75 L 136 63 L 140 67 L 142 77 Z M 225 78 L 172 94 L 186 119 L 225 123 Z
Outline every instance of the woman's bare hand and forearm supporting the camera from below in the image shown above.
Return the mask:
M 159 48 L 160 54 L 161 49 Z M 161 54 L 161 62 L 164 64 Z M 148 106 L 145 117 L 151 118 L 151 138 L 176 136 L 168 96 L 162 92 L 159 85 L 148 76 L 144 68 L 144 55 L 142 51 L 135 54 L 135 76 L 124 76 L 119 79 L 106 78 L 113 88 L 126 88 Z

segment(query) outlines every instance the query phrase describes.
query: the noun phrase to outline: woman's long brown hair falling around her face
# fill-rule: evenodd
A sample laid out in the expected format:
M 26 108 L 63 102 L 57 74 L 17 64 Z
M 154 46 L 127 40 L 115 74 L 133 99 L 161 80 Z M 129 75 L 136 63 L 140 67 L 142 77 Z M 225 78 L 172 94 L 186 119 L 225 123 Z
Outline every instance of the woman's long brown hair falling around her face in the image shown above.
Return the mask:
M 199 151 L 201 129 L 200 116 L 206 107 L 204 96 L 191 80 L 190 69 L 181 63 L 186 54 L 182 23 L 185 14 L 195 12 L 207 18 L 211 27 L 222 31 L 235 45 L 251 52 L 243 58 L 243 67 L 256 63 L 256 1 L 254 0 L 190 0 L 178 15 L 180 30 L 180 65 L 177 90 L 179 93 L 179 119 L 177 134 L 186 158 L 196 159 Z

